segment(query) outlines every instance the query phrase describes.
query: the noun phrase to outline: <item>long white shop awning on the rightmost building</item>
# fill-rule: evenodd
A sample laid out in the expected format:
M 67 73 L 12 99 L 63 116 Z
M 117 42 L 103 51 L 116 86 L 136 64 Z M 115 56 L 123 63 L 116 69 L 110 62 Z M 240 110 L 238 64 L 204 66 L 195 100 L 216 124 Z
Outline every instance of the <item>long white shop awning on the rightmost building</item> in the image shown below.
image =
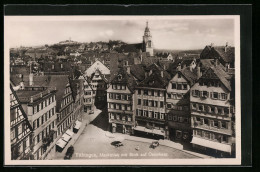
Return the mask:
M 200 145 L 200 146 L 204 146 L 204 147 L 208 147 L 208 148 L 212 148 L 212 149 L 216 149 L 216 150 L 220 150 L 223 152 L 231 153 L 231 145 L 214 142 L 214 141 L 210 141 L 210 140 L 206 140 L 206 139 L 202 139 L 202 138 L 198 138 L 198 137 L 193 137 L 191 143 Z

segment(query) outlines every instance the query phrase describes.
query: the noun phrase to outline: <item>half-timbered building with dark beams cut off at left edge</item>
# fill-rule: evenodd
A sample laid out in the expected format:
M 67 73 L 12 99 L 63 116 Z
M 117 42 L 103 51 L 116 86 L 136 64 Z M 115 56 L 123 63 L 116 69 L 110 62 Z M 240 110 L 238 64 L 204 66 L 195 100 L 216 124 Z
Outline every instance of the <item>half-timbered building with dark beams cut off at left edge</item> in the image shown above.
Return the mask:
M 11 160 L 33 159 L 33 128 L 10 85 L 10 141 Z

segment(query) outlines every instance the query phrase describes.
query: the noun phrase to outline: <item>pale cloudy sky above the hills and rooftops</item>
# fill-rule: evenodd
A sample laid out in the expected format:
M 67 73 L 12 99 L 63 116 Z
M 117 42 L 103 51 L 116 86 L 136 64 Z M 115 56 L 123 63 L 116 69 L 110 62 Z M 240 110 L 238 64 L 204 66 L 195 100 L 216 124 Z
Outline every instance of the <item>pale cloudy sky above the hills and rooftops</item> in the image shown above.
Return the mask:
M 205 45 L 234 45 L 234 20 L 145 18 L 116 20 L 5 19 L 5 37 L 10 47 L 54 44 L 71 38 L 78 42 L 122 40 L 140 43 L 146 26 L 156 49 L 202 49 Z

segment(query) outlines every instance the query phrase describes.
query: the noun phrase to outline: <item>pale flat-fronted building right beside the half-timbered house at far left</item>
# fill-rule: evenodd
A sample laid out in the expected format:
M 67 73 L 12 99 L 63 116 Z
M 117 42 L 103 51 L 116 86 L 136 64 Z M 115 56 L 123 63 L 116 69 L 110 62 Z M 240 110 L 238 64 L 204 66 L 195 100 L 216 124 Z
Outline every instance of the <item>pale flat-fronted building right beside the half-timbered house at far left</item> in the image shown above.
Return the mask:
M 16 91 L 33 129 L 34 159 L 43 159 L 56 138 L 56 90 L 46 87 L 25 87 Z M 52 145 L 54 146 L 54 144 Z

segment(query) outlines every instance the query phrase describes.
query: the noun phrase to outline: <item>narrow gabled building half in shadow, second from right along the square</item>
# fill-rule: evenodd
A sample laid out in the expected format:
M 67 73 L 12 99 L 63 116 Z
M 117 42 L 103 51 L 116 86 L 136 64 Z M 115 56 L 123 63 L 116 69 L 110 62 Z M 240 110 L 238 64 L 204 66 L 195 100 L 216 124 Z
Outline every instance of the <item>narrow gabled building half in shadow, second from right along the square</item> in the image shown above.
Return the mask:
M 191 141 L 190 88 L 197 80 L 192 66 L 178 71 L 167 85 L 166 112 L 169 137 L 173 140 Z

